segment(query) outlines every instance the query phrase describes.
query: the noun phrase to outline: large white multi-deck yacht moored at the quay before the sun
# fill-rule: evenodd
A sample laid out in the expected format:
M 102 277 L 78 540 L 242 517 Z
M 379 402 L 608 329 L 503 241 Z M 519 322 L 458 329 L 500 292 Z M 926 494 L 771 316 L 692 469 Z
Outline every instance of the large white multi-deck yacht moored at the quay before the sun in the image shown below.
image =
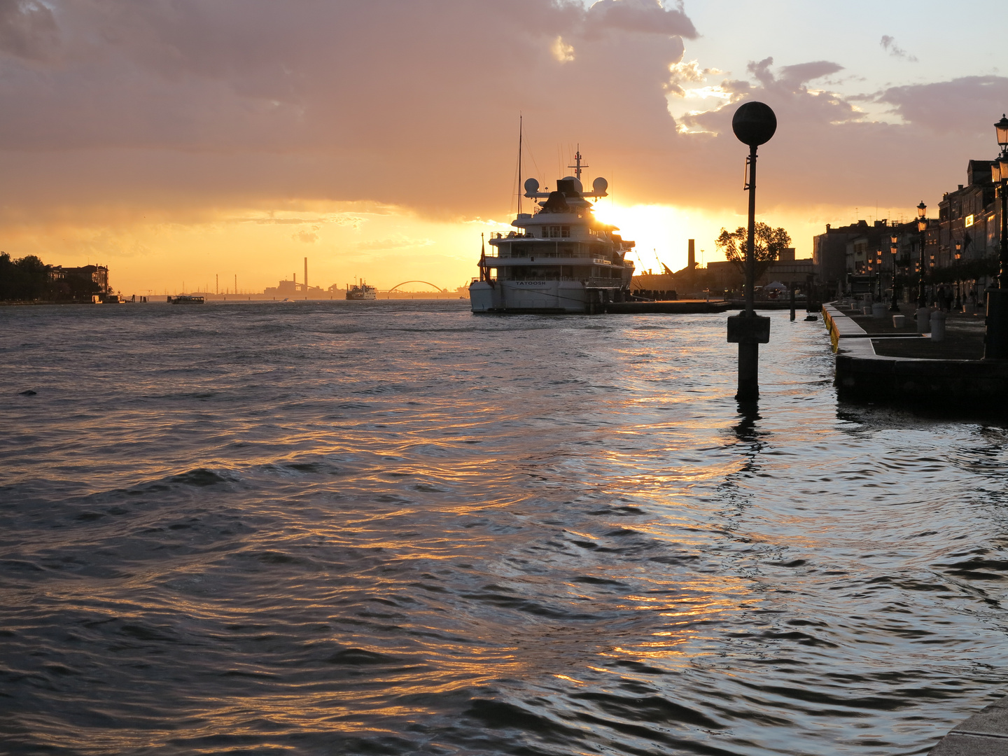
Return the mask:
M 585 192 L 581 159 L 579 151 L 575 175 L 557 180 L 554 192 L 525 181 L 524 196 L 543 202 L 534 215 L 519 210 L 511 222 L 517 231 L 491 236 L 496 254 L 481 252 L 480 277 L 469 286 L 474 312 L 592 313 L 630 298 L 633 262 L 625 255 L 634 243 L 596 220 L 588 198 L 608 197 L 609 182 L 599 176 Z

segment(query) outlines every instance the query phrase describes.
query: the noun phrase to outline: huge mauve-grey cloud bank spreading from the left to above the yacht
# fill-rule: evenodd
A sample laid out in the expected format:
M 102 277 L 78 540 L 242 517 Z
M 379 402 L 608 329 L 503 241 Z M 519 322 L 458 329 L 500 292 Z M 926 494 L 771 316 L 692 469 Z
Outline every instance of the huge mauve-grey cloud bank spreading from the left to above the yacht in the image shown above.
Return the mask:
M 611 162 L 660 148 L 672 129 L 668 67 L 679 34 L 696 35 L 680 8 L 656 0 L 7 0 L 0 10 L 20 50 L 0 76 L 0 164 L 12 171 L 0 205 L 16 206 L 367 201 L 496 213 L 519 111 L 540 154 L 558 141 Z M 25 55 L 41 54 L 43 38 L 39 68 Z

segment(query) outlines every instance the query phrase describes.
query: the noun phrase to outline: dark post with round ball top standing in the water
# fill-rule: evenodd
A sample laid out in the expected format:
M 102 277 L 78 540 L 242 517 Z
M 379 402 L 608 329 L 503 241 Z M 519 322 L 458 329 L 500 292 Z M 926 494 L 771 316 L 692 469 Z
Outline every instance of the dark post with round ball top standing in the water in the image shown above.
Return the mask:
M 759 398 L 759 345 L 770 341 L 770 319 L 755 312 L 756 288 L 756 148 L 770 141 L 777 130 L 777 117 L 769 105 L 748 102 L 732 118 L 732 131 L 749 145 L 746 165 L 749 180 L 749 233 L 746 237 L 746 308 L 728 319 L 728 341 L 739 345 L 739 390 L 735 398 L 753 402 Z

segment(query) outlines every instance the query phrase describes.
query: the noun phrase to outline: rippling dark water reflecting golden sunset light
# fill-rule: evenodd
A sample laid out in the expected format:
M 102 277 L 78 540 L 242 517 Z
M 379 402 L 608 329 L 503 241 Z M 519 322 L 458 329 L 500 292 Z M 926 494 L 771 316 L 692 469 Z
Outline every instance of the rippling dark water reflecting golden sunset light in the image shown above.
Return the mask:
M 910 754 L 1006 683 L 1006 433 L 773 316 L 0 308 L 0 751 Z M 21 395 L 34 390 L 33 396 Z

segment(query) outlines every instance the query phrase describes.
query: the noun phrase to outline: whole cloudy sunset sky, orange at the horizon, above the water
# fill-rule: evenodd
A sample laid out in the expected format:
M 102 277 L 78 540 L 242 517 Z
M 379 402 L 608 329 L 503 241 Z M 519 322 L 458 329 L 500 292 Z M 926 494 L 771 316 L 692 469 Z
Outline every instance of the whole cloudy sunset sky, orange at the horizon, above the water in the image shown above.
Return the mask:
M 936 211 L 1008 110 L 988 0 L 0 0 L 0 249 L 123 293 L 455 289 L 522 177 L 579 148 L 642 269 L 745 223 L 743 102 L 777 115 L 757 211 Z M 1000 68 L 999 68 L 1000 67 Z M 524 201 L 523 210 L 528 210 Z M 417 286 L 417 288 L 421 288 Z

